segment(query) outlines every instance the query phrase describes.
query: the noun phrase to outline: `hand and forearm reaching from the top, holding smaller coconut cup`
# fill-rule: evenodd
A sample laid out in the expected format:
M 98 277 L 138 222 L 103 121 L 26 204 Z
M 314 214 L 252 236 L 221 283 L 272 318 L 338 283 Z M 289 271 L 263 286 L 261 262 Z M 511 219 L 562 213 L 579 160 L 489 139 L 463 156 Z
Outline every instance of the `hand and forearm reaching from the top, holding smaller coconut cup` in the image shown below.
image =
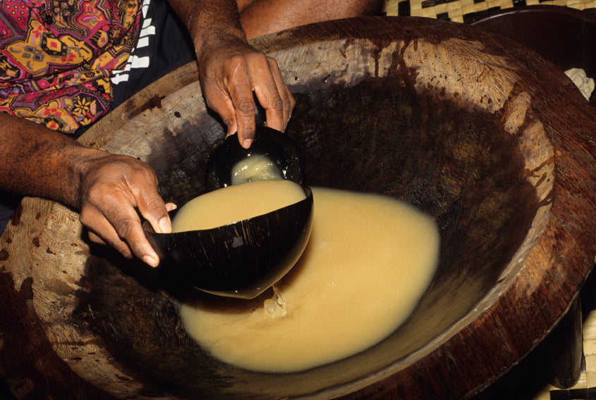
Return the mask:
M 247 42 L 236 0 L 169 0 L 193 38 L 205 102 L 238 140 L 255 136 L 253 91 L 267 126 L 284 131 L 296 101 L 276 61 Z

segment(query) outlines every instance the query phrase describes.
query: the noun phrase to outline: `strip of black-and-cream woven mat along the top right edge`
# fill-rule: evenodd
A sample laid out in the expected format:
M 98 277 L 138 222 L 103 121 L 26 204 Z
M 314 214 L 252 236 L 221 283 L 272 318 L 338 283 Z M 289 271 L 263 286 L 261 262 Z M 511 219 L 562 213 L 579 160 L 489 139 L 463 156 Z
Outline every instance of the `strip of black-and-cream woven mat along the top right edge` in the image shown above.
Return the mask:
M 520 6 L 566 6 L 596 14 L 596 0 L 385 0 L 387 15 L 411 15 L 466 23 L 472 18 Z

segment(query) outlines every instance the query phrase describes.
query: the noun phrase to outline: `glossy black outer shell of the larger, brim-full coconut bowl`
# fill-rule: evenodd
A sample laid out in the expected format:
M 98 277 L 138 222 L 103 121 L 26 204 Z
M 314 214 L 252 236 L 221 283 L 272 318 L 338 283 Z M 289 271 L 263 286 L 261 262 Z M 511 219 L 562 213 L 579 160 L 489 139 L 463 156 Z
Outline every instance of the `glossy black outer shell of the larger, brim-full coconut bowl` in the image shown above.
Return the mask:
M 145 235 L 162 267 L 186 285 L 219 296 L 253 299 L 291 270 L 308 243 L 312 191 L 303 190 L 305 199 L 253 218 L 169 234 L 155 233 L 144 223 Z

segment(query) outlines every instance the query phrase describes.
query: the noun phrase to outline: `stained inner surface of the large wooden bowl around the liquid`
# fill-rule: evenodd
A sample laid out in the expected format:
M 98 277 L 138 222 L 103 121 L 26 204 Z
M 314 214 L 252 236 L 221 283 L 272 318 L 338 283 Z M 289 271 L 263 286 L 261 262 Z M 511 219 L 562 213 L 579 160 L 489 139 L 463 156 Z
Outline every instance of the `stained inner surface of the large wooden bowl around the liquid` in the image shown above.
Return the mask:
M 74 318 L 104 338 L 147 395 L 335 396 L 415 363 L 497 299 L 540 239 L 552 204 L 553 149 L 530 97 L 514 89 L 521 78 L 507 60 L 463 44 L 336 39 L 272 54 L 296 96 L 286 132 L 303 151 L 305 185 L 403 199 L 439 225 L 437 275 L 382 343 L 302 373 L 241 370 L 188 338 L 174 294 L 161 291 L 164 277 L 139 277 L 105 254 L 87 261 L 93 285 Z M 196 90 L 173 97 L 197 101 Z M 130 149 L 142 149 L 164 199 L 183 204 L 205 191 L 207 157 L 224 130 L 204 107 L 191 118 L 167 100 L 160 113 L 130 122 L 138 132 Z M 158 133 L 147 142 L 149 130 Z

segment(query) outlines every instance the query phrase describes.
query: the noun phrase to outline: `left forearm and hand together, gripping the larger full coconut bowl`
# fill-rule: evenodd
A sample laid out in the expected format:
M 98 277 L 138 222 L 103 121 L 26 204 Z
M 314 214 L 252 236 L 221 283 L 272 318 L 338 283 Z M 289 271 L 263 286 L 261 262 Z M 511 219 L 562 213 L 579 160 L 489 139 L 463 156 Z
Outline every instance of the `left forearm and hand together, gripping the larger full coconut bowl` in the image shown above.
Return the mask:
M 157 266 L 135 208 L 156 232 L 171 232 L 157 178 L 145 163 L 90 149 L 73 139 L 8 113 L 0 113 L 0 187 L 42 196 L 80 211 L 94 242 Z

